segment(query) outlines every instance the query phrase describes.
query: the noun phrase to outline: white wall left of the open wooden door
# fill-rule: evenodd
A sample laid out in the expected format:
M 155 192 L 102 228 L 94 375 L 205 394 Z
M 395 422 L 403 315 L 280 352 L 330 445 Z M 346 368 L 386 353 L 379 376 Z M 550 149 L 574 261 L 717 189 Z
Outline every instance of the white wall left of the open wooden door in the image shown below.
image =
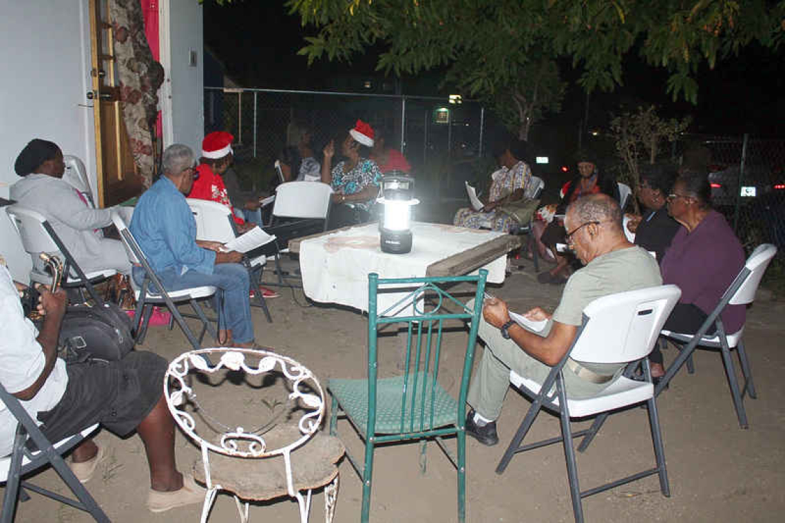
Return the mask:
M 195 2 L 194 2 L 195 3 Z M 19 180 L 16 155 L 33 138 L 82 158 L 95 180 L 87 0 L 0 0 L 0 196 Z M 201 29 L 199 29 L 201 32 Z M 0 254 L 27 281 L 30 256 L 0 211 Z

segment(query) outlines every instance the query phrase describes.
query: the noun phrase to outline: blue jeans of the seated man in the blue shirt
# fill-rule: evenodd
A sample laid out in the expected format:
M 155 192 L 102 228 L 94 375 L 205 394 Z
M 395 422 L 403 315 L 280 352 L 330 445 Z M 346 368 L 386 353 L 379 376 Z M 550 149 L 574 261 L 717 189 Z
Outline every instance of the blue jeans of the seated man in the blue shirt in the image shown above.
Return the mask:
M 177 274 L 174 267 L 158 273 L 167 291 L 178 291 L 190 287 L 212 285 L 218 289 L 215 294 L 215 309 L 218 310 L 219 296 L 221 318 L 227 329 L 232 329 L 232 339 L 237 343 L 249 343 L 254 340 L 254 322 L 250 318 L 250 278 L 247 269 L 240 263 L 218 263 L 213 274 L 187 271 Z M 133 267 L 133 279 L 141 285 L 144 269 Z

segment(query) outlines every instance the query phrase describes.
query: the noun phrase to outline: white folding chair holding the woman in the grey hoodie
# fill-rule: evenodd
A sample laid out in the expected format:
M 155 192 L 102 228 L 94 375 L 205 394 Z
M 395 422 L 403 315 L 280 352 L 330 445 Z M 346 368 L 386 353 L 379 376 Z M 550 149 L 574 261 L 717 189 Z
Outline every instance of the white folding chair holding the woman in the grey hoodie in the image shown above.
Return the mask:
M 98 296 L 93 284 L 111 278 L 117 274 L 117 271 L 114 269 L 102 269 L 89 273 L 82 271 L 82 267 L 79 267 L 79 263 L 76 263 L 74 256 L 71 256 L 71 252 L 57 236 L 52 224 L 41 213 L 19 204 L 9 205 L 5 208 L 5 212 L 8 213 L 11 223 L 16 228 L 26 252 L 35 257 L 38 257 L 41 252 L 46 252 L 64 258 L 61 260 L 64 263 L 64 281 L 61 282 L 61 285 L 66 289 L 84 287 L 95 303 L 103 305 L 104 301 Z M 49 285 L 52 276 L 35 267 L 34 263 L 30 271 L 30 279 L 35 283 Z

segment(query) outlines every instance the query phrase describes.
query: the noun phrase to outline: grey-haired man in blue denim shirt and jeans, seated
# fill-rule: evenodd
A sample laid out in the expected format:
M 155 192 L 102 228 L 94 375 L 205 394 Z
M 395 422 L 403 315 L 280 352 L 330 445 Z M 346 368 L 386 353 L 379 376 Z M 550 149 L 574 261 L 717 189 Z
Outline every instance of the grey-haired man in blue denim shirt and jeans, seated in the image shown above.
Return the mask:
M 196 239 L 196 221 L 185 194 L 198 176 L 190 148 L 175 143 L 162 155 L 163 173 L 139 198 L 130 231 L 166 290 L 212 285 L 226 329 L 219 332 L 222 346 L 254 347 L 250 317 L 250 279 L 239 252 L 225 252 L 218 242 Z M 144 269 L 133 267 L 141 284 Z M 221 298 L 222 295 L 223 299 Z

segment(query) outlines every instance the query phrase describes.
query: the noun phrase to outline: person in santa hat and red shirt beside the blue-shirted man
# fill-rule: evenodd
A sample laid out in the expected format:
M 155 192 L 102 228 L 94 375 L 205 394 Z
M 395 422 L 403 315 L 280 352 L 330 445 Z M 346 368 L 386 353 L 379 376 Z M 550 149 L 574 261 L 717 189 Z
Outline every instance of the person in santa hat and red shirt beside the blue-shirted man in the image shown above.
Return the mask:
M 250 231 L 256 227 L 254 223 L 246 222 L 240 217 L 239 212 L 235 212 L 232 201 L 229 200 L 226 185 L 221 175 L 226 172 L 235 156 L 232 151 L 232 140 L 235 137 L 226 131 L 215 131 L 208 134 L 202 140 L 202 158 L 199 166 L 196 167 L 197 176 L 194 180 L 188 198 L 199 200 L 210 200 L 218 202 L 232 209 L 232 218 L 235 220 L 237 231 L 240 233 Z M 278 292 L 262 287 L 262 296 L 265 298 L 277 298 Z

